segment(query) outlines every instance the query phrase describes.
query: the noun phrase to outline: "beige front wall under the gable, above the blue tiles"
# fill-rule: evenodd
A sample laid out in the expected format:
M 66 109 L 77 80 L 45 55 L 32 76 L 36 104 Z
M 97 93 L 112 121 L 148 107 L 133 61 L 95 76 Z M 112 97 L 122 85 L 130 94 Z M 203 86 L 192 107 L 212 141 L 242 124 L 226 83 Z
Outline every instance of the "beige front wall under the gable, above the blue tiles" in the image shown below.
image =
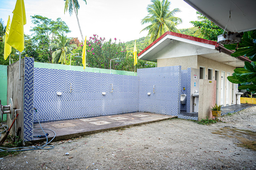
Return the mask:
M 197 68 L 197 55 L 157 59 L 157 67 L 181 65 L 182 70 Z

